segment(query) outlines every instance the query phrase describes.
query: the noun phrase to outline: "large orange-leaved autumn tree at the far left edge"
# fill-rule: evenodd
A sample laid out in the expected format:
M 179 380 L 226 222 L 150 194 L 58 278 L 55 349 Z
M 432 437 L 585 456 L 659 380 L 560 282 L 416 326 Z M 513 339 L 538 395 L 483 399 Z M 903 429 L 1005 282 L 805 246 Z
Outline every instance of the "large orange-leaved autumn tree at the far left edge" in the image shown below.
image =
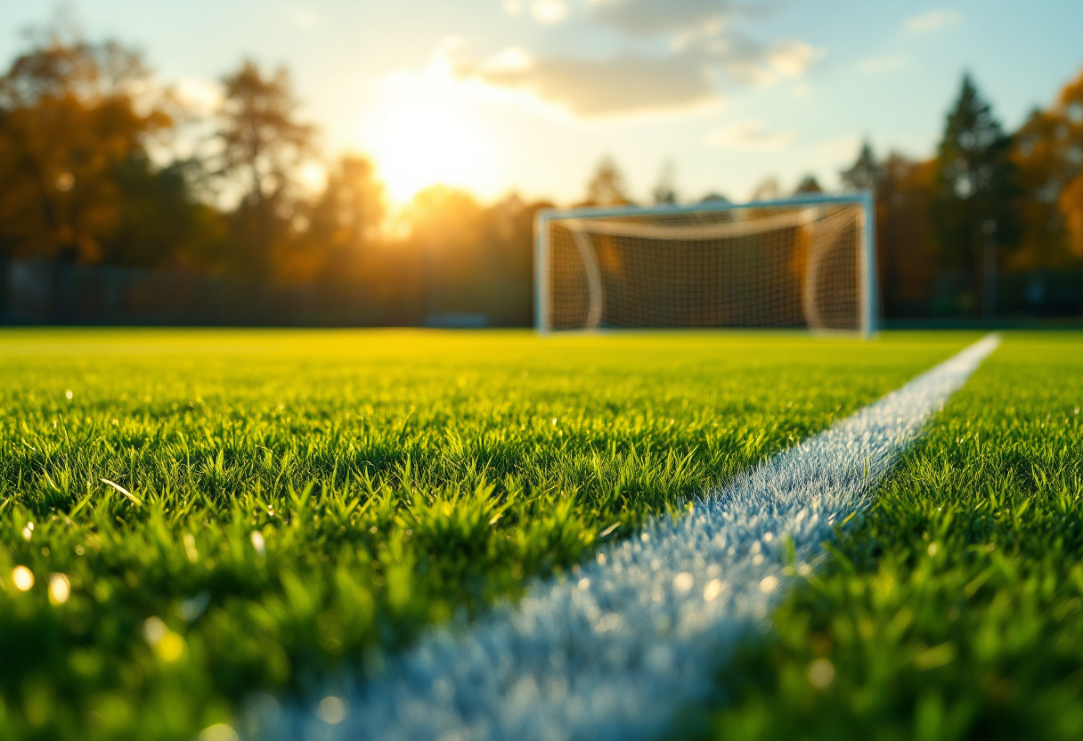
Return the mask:
M 0 77 L 0 249 L 99 260 L 121 222 L 118 169 L 172 126 L 140 55 L 60 31 Z

